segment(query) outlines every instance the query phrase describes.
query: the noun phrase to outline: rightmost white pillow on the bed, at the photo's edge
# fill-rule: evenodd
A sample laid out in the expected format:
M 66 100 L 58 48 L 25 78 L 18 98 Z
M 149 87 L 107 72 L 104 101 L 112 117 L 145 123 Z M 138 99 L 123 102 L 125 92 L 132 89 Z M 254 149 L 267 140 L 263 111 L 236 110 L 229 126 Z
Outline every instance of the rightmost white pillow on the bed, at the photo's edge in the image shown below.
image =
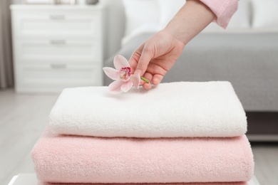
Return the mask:
M 252 0 L 253 28 L 278 28 L 278 0 Z

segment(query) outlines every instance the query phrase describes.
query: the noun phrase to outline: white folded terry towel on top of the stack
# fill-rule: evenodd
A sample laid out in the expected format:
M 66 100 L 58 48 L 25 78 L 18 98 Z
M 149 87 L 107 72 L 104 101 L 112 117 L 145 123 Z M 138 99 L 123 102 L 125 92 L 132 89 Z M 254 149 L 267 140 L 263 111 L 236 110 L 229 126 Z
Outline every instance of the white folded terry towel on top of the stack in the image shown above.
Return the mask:
M 107 87 L 63 90 L 53 133 L 97 137 L 236 137 L 247 130 L 229 82 L 163 83 L 111 95 Z

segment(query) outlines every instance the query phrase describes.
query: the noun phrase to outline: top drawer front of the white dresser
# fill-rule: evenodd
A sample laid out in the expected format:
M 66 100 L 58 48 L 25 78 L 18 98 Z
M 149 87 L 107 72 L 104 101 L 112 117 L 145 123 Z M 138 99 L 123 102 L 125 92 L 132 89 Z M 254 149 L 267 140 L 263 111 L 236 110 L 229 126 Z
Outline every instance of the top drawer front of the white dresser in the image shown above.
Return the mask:
M 15 36 L 99 36 L 101 12 L 32 11 L 14 14 Z

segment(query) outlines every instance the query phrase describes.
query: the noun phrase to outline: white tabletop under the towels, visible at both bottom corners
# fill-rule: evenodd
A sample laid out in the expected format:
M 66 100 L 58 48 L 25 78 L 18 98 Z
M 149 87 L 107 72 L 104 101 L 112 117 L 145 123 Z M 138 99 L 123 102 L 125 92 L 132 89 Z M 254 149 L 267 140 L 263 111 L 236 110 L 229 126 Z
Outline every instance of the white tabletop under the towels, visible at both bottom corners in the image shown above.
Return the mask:
M 8 185 L 37 185 L 37 183 L 36 174 L 18 174 L 11 179 Z M 259 185 L 256 176 L 252 177 L 248 185 Z

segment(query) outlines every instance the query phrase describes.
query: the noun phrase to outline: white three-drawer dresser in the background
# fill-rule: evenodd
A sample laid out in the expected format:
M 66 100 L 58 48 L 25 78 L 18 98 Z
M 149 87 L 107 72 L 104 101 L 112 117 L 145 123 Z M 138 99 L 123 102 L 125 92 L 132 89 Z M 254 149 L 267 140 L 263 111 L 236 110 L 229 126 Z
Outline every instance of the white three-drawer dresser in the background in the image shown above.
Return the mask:
M 103 85 L 105 7 L 11 5 L 15 89 Z

